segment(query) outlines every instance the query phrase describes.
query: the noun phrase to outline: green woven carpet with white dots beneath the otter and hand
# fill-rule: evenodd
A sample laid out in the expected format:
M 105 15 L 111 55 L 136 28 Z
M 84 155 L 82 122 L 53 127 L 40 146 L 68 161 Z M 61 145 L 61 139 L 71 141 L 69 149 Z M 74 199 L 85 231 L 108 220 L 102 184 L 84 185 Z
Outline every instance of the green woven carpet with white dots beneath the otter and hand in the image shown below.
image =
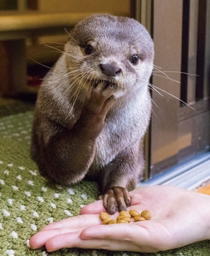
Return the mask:
M 63 249 L 31 250 L 29 238 L 50 222 L 78 215 L 97 199 L 97 185 L 71 187 L 50 184 L 30 159 L 33 106 L 18 103 L 0 107 L 0 256 L 210 256 L 210 241 L 158 252 Z

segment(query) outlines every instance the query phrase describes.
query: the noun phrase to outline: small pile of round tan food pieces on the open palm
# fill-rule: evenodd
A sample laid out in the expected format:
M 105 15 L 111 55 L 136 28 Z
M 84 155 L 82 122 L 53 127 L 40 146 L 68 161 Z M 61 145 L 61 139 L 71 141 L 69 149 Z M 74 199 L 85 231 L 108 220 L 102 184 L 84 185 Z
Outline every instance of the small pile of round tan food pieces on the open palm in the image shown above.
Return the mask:
M 136 210 L 121 211 L 116 220 L 113 220 L 108 213 L 102 212 L 100 213 L 100 219 L 103 225 L 106 224 L 115 224 L 115 223 L 129 223 L 131 222 L 131 217 L 133 217 L 134 221 L 145 221 L 151 219 L 152 215 L 148 210 L 139 213 Z

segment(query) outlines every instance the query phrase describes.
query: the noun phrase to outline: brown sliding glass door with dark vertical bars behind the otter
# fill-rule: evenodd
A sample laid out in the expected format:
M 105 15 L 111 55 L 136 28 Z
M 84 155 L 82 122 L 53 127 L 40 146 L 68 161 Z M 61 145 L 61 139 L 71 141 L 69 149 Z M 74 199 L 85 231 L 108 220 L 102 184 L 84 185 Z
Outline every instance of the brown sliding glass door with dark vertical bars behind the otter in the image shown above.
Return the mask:
M 210 1 L 137 0 L 131 10 L 155 45 L 149 179 L 210 150 Z

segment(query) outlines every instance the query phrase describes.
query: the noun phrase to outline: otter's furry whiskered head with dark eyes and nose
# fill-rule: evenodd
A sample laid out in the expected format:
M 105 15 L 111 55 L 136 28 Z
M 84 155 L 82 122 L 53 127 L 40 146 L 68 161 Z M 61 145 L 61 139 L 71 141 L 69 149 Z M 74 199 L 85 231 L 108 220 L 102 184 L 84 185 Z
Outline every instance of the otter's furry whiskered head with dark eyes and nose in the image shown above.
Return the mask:
M 75 86 L 88 89 L 105 81 L 121 97 L 148 82 L 153 41 L 138 21 L 96 14 L 79 22 L 70 36 L 65 53 Z

